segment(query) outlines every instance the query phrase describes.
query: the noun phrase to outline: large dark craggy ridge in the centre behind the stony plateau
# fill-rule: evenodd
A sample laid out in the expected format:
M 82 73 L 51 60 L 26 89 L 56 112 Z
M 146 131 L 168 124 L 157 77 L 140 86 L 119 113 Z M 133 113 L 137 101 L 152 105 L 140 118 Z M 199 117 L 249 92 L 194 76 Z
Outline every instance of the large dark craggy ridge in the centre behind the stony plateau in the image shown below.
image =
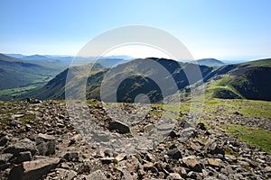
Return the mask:
M 167 75 L 161 74 L 161 69 L 157 69 L 152 63 L 164 68 Z M 84 66 L 80 67 L 84 68 Z M 81 75 L 75 74 L 72 76 L 74 81 L 71 80 L 68 84 L 73 84 L 72 91 L 76 94 L 81 88 L 77 85 L 86 85 L 87 83 L 86 96 L 88 99 L 100 100 L 101 84 L 103 83 L 103 85 L 107 85 L 107 88 L 103 89 L 102 92 L 103 100 L 107 102 L 114 102 L 116 96 L 117 102 L 134 102 L 138 94 L 146 94 L 152 103 L 157 103 L 164 96 L 174 94 L 178 89 L 201 80 L 201 76 L 195 76 L 197 68 L 197 65 L 183 64 L 171 59 L 139 58 L 126 64 L 120 64 L 117 67 L 97 68 L 86 79 L 87 82 L 83 82 L 85 80 Z M 207 76 L 210 74 L 212 67 L 201 66 L 200 70 L 202 76 Z M 63 99 L 67 73 L 68 70 L 63 71 L 47 85 L 27 95 L 40 99 Z M 191 75 L 190 79 L 187 78 L 186 73 Z M 106 75 L 107 78 L 105 78 Z M 167 85 L 171 80 L 173 80 L 176 88 L 173 88 L 172 84 Z M 157 81 L 160 82 L 160 85 L 156 84 Z M 118 82 L 121 82 L 121 84 L 117 85 Z

